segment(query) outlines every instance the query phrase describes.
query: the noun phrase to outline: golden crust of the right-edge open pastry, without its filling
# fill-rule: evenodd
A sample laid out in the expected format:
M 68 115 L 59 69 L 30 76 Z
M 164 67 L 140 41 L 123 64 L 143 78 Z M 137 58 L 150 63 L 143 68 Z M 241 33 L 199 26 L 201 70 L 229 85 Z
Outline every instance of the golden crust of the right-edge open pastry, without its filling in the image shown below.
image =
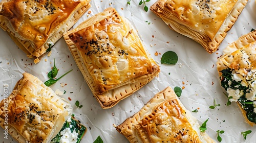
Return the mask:
M 222 76 L 221 71 L 227 68 L 242 76 L 241 84 L 243 86 L 253 88 L 251 81 L 247 78 L 251 77 L 251 73 L 256 71 L 256 31 L 241 36 L 223 50 L 223 56 L 217 61 L 217 70 L 220 77 Z M 252 92 L 251 90 L 248 91 Z M 229 96 L 233 97 L 234 95 L 230 94 Z M 255 125 L 256 123 L 248 120 L 247 113 L 242 105 L 239 102 L 237 104 L 242 111 L 245 122 L 251 126 Z

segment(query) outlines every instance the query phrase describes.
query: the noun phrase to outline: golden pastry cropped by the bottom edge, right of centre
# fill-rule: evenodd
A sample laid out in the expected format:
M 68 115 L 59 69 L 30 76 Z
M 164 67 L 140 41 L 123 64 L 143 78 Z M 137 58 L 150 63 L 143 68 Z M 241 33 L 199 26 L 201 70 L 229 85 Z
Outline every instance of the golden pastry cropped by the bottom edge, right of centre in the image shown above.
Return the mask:
M 167 87 L 116 129 L 130 142 L 215 142 L 199 127 L 173 89 Z

